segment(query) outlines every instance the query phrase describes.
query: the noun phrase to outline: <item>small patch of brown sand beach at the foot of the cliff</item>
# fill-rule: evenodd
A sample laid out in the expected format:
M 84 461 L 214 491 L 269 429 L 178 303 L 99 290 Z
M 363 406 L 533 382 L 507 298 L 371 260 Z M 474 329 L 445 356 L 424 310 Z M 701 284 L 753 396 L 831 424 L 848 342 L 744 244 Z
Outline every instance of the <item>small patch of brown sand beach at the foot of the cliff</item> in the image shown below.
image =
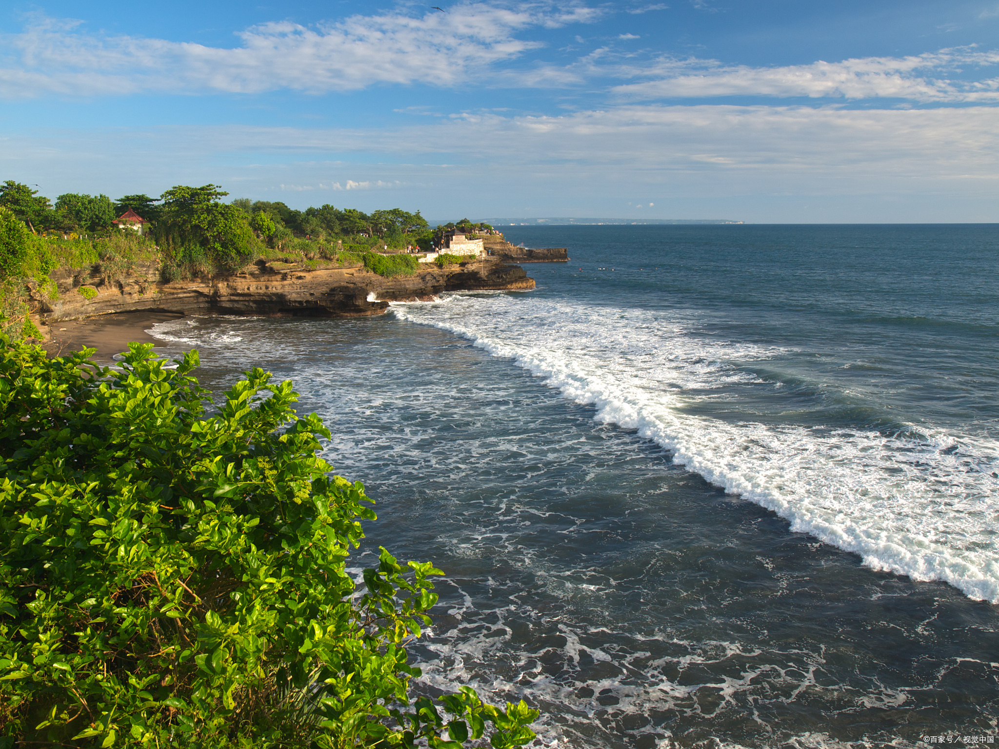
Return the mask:
M 92 359 L 108 364 L 112 355 L 128 351 L 131 342 L 162 346 L 162 341 L 146 331 L 157 323 L 183 317 L 177 313 L 135 312 L 53 323 L 47 330 L 49 340 L 42 346 L 54 357 L 78 352 L 83 347 L 97 349 Z

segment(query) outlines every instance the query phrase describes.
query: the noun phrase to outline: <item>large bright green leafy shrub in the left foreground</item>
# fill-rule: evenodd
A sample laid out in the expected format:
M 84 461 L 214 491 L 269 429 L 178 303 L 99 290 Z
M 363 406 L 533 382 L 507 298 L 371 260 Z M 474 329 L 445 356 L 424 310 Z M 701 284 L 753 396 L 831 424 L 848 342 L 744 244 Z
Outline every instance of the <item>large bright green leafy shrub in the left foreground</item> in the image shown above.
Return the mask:
M 0 736 L 460 749 L 492 721 L 498 749 L 532 739 L 522 702 L 411 700 L 405 643 L 440 572 L 383 549 L 363 585 L 347 573 L 374 513 L 316 455 L 330 432 L 296 419 L 291 382 L 249 372 L 207 417 L 197 354 L 170 371 L 150 350 L 113 372 L 0 338 Z

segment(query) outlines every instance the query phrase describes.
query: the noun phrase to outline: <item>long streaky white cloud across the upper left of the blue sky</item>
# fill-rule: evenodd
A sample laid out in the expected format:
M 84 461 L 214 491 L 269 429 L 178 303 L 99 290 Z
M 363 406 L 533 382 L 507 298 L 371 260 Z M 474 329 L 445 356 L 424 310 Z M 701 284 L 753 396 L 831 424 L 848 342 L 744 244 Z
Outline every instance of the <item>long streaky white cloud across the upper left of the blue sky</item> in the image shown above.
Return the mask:
M 595 21 L 598 9 L 550 0 L 459 3 L 448 13 L 386 12 L 305 27 L 261 24 L 225 49 L 133 36 L 89 35 L 78 21 L 42 19 L 3 39 L 0 96 L 135 92 L 307 93 L 376 83 L 448 86 L 515 58 L 538 42 L 514 35 Z

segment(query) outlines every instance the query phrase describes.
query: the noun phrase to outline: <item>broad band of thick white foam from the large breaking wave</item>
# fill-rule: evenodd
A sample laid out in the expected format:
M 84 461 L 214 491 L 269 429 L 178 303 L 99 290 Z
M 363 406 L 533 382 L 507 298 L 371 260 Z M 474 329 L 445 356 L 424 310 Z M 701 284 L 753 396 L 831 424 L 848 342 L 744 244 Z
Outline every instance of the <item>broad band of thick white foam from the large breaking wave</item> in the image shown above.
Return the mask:
M 633 428 L 675 462 L 772 509 L 791 529 L 859 554 L 866 565 L 944 580 L 999 603 L 999 444 L 927 430 L 923 438 L 689 413 L 736 367 L 778 349 L 698 339 L 676 316 L 541 298 L 451 295 L 393 304 L 402 320 L 472 340 L 545 378 L 594 418 Z

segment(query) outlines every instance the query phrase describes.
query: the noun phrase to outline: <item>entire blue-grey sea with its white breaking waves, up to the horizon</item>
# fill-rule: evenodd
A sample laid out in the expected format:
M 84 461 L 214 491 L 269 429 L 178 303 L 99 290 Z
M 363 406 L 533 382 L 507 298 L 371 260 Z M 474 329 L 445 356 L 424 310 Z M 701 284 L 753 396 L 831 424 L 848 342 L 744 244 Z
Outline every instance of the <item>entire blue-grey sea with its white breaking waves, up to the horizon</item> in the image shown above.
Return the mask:
M 999 743 L 999 225 L 508 227 L 537 288 L 185 318 L 444 570 L 416 691 L 548 747 Z

